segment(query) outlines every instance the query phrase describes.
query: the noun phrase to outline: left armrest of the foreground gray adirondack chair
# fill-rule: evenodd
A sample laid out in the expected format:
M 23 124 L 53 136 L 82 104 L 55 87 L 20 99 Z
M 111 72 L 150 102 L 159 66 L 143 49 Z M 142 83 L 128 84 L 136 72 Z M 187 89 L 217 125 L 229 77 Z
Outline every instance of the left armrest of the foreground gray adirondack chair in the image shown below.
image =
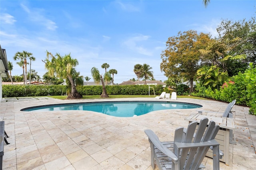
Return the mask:
M 178 161 L 178 157 L 160 142 L 160 140 L 152 130 L 147 129 L 144 132 L 148 136 L 148 140 L 150 143 L 153 143 L 156 148 L 161 150 L 161 152 L 166 154 L 168 157 L 172 158 L 172 160 Z

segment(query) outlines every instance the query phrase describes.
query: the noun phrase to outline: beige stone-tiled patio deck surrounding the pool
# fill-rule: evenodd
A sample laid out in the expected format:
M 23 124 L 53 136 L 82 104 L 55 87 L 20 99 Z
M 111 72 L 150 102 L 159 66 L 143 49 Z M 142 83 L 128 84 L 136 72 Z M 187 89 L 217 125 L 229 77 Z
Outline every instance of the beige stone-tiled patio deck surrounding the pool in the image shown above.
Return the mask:
M 170 99 L 124 98 L 59 100 L 50 97 L 7 98 L 0 103 L 0 120 L 10 136 L 4 145 L 3 169 L 35 170 L 152 170 L 145 129 L 161 141 L 173 140 L 177 127 L 198 109 L 172 109 L 138 117 L 112 117 L 91 111 L 23 112 L 38 105 L 92 101 L 171 101 Z M 173 100 L 174 101 L 174 100 Z M 228 103 L 177 98 L 177 102 L 202 105 L 200 110 L 224 112 Z M 129 108 L 127 108 L 129 109 Z M 256 167 L 256 116 L 248 107 L 232 109 L 236 145 L 230 144 L 230 165 L 221 170 L 253 170 Z M 212 158 L 203 164 L 212 169 Z M 157 166 L 156 166 L 156 169 Z

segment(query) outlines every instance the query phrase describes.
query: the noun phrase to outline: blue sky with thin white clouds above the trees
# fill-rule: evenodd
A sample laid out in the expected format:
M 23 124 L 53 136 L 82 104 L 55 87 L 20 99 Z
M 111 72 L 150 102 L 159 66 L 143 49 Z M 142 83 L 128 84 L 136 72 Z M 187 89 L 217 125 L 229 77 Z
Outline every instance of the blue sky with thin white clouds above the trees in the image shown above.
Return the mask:
M 71 53 L 83 76 L 92 78 L 92 67 L 104 73 L 101 65 L 108 63 L 118 71 L 114 83 L 122 83 L 136 78 L 134 65 L 147 63 L 164 81 L 160 55 L 169 37 L 188 30 L 214 37 L 222 19 L 249 20 L 255 12 L 256 0 L 211 0 L 207 8 L 202 0 L 1 0 L 0 43 L 12 75 L 22 74 L 13 56 L 25 50 L 36 57 L 32 69 L 42 78 L 48 50 Z

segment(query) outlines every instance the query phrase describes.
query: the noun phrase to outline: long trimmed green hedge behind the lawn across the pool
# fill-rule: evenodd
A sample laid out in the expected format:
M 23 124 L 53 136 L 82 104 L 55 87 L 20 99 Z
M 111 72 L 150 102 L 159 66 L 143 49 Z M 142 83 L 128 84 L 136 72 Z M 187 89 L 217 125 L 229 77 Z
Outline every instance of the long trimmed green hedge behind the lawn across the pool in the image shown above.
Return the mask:
M 162 85 L 150 85 L 150 95 L 160 95 L 166 89 Z M 80 86 L 76 87 L 81 95 L 101 95 L 102 86 Z M 64 95 L 67 86 L 65 85 L 2 85 L 2 97 L 30 97 L 47 95 Z M 148 85 L 114 85 L 106 86 L 108 95 L 148 95 Z M 167 91 L 166 92 L 170 92 Z

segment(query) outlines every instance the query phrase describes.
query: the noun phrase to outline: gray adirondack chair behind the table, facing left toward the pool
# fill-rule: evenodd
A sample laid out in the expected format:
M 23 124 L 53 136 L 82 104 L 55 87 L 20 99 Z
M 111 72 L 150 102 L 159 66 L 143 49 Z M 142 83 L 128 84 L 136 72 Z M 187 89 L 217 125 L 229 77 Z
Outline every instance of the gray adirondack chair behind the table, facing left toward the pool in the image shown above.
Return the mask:
M 222 117 L 233 118 L 233 113 L 231 112 L 231 109 L 233 108 L 235 103 L 236 103 L 236 100 L 233 100 L 232 102 L 228 103 L 228 106 L 227 106 L 226 110 L 224 111 L 224 113 L 212 112 L 212 111 L 198 111 L 198 113 L 200 113 L 200 114 L 202 114 L 203 112 L 205 112 L 205 113 L 217 113 L 217 114 L 220 114 L 220 116 L 222 116 Z M 233 136 L 233 130 L 232 129 L 230 129 L 230 132 L 229 132 L 229 143 L 236 144 L 236 142 L 234 141 L 234 136 Z

